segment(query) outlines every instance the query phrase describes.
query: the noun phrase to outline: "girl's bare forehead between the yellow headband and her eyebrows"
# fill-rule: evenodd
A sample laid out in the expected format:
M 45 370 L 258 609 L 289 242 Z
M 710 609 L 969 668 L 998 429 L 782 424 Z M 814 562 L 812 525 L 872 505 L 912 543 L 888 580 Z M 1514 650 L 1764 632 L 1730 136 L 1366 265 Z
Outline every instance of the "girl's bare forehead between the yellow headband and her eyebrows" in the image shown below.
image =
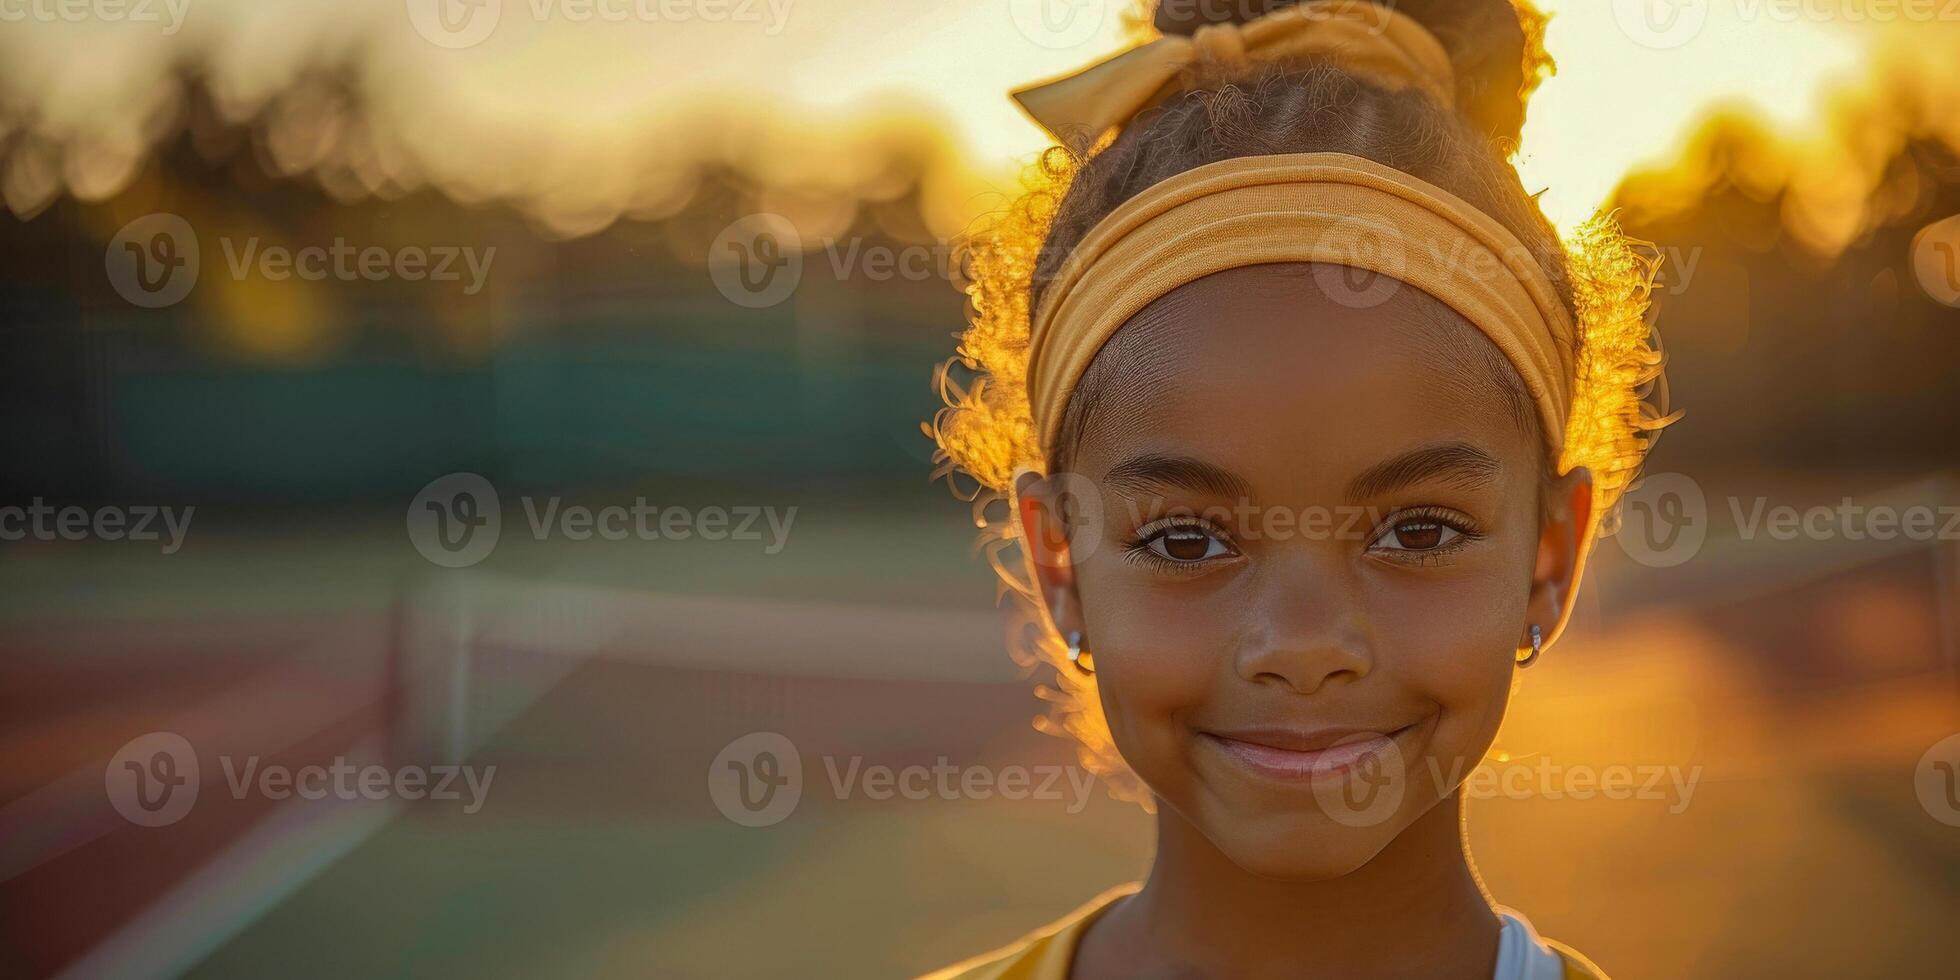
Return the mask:
M 1090 392 L 1076 466 L 1182 453 L 1266 492 L 1311 492 L 1460 441 L 1531 472 L 1537 445 L 1490 368 L 1490 341 L 1413 286 L 1358 276 L 1245 267 L 1151 304 L 1098 355 L 1109 384 Z

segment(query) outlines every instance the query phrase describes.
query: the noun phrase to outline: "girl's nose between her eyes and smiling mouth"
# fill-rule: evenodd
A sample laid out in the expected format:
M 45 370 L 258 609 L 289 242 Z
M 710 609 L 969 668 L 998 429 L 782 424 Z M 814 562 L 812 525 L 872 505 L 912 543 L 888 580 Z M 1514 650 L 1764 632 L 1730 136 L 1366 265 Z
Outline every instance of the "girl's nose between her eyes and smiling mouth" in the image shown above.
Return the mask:
M 1374 668 L 1360 596 L 1335 568 L 1311 561 L 1274 566 L 1250 612 L 1235 657 L 1245 680 L 1315 694 Z

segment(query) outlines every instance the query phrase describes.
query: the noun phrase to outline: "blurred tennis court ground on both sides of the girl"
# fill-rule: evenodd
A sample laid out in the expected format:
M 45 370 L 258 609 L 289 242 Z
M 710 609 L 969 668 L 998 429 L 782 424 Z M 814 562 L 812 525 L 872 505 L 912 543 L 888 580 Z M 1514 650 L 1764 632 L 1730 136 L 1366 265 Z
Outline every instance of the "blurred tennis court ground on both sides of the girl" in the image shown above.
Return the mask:
M 10 698 L 0 745 L 0 896 L 39 923 L 8 956 L 71 976 L 870 978 L 1013 939 L 1141 874 L 1151 829 L 1100 786 L 837 798 L 853 759 L 1072 762 L 1033 731 L 937 494 L 806 500 L 798 547 L 766 559 L 519 541 L 435 574 L 400 514 L 355 512 L 176 563 L 12 561 L 20 653 L 0 670 L 43 696 Z M 1490 892 L 1615 976 L 1948 976 L 1960 837 L 1913 766 L 1960 727 L 1954 555 L 1725 547 L 1717 531 L 1695 563 L 1713 570 L 1658 574 L 1605 543 L 1597 602 L 1501 737 L 1519 760 L 1695 768 L 1691 796 L 1486 794 L 1470 839 Z M 61 698 L 84 688 L 88 710 Z M 100 760 L 151 729 L 206 759 L 496 776 L 465 813 L 231 800 L 206 762 L 186 819 L 133 827 L 102 804 Z M 768 827 L 708 790 L 753 731 L 804 766 Z

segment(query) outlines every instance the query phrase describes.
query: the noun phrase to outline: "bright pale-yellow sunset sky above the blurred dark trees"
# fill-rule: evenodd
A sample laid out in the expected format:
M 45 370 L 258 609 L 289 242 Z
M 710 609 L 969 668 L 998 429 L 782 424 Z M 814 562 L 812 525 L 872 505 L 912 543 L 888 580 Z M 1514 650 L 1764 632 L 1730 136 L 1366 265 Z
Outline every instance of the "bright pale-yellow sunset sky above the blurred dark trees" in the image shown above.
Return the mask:
M 970 218 L 976 180 L 1007 186 L 1043 145 L 1005 92 L 1129 43 L 1129 0 L 476 0 L 451 8 L 451 24 L 478 20 L 447 35 L 427 27 L 433 2 L 155 0 L 145 24 L 27 18 L 0 27 L 0 98 L 65 147 L 71 192 L 106 196 L 141 159 L 143 120 L 172 98 L 159 84 L 172 61 L 208 57 L 214 88 L 243 116 L 302 69 L 365 45 L 355 59 L 378 169 L 465 200 L 525 200 L 570 233 L 657 198 L 643 184 L 662 161 L 741 155 L 770 180 L 849 184 L 862 153 L 839 133 L 931 116 L 966 171 L 927 194 L 951 231 Z M 1821 92 L 1866 76 L 1882 41 L 1954 39 L 1952 24 L 1813 20 L 1768 2 L 1544 6 L 1560 71 L 1533 102 L 1519 169 L 1562 225 L 1715 106 L 1752 106 L 1797 145 Z M 1682 12 L 1662 29 L 1641 18 L 1646 6 Z M 12 184 L 37 178 L 14 169 Z M 29 190 L 12 186 L 10 204 Z

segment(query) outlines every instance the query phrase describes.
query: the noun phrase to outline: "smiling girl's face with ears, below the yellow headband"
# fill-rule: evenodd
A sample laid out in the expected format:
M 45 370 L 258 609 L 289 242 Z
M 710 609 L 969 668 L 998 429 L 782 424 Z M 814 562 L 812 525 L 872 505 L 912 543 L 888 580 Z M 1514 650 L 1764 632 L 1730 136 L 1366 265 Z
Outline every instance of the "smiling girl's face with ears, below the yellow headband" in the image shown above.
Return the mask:
M 1125 327 L 1151 319 L 1149 351 L 1103 355 L 1154 365 L 1100 392 L 1068 478 L 1023 486 L 1125 762 L 1274 878 L 1366 864 L 1478 764 L 1592 500 L 1584 470 L 1546 488 L 1474 327 L 1343 274 L 1247 267 L 1158 300 Z

